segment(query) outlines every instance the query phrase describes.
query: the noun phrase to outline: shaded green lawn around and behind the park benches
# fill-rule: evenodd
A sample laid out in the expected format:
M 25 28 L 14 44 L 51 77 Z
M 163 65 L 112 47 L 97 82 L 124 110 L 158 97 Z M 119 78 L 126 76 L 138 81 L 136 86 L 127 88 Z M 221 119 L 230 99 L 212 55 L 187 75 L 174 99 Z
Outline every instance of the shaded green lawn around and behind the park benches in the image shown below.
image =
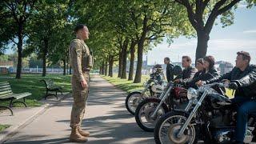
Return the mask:
M 41 74 L 22 74 L 21 79 L 15 79 L 15 75 L 0 76 L 0 82 L 10 82 L 10 86 L 14 93 L 30 92 L 32 95 L 26 97 L 26 104 L 28 106 L 41 106 L 38 102 L 46 94 L 46 86 L 42 79 L 52 79 L 56 85 L 64 86 L 63 92 L 71 91 L 70 78 L 71 75 L 62 74 L 48 74 L 46 77 L 42 77 Z M 9 102 L 3 102 L 3 105 L 8 105 Z M 15 106 L 22 106 L 21 104 L 15 104 Z

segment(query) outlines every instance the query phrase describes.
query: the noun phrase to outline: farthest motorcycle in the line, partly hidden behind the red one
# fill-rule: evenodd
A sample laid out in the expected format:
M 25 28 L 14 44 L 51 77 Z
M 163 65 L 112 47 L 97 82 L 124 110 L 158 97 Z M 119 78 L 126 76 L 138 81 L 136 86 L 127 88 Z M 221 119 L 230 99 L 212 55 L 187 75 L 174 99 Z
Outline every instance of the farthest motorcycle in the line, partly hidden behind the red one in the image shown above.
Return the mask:
M 146 98 L 158 98 L 167 86 L 166 82 L 162 82 L 162 77 L 157 73 L 150 74 L 150 79 L 144 83 L 144 90 L 134 91 L 126 97 L 126 109 L 130 114 L 135 114 L 135 110 L 140 102 Z M 149 92 L 149 95 L 147 94 Z

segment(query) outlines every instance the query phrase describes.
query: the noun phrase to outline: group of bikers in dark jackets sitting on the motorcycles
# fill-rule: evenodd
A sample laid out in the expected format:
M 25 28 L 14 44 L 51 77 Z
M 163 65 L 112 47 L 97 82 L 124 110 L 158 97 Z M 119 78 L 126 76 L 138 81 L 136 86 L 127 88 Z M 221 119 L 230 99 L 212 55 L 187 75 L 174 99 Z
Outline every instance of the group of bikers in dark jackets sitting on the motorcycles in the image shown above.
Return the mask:
M 164 58 L 166 64 L 166 79 L 182 83 L 186 87 L 198 88 L 213 82 L 226 82 L 230 89 L 235 90 L 232 102 L 238 104 L 237 126 L 234 143 L 243 143 L 246 133 L 246 122 L 249 114 L 256 112 L 256 66 L 250 64 L 250 54 L 246 51 L 239 51 L 235 60 L 235 66 L 229 73 L 218 74 L 215 69 L 213 56 L 199 58 L 196 61 L 196 68 L 191 66 L 189 56 L 182 57 L 182 74 L 174 78 L 174 65 L 170 58 Z

